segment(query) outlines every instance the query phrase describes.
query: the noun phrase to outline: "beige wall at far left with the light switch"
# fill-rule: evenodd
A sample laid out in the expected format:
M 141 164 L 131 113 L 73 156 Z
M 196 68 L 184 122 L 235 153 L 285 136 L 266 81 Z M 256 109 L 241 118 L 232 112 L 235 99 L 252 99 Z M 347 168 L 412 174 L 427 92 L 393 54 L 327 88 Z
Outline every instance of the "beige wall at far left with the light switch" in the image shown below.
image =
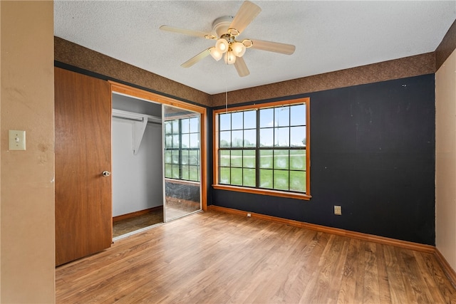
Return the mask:
M 53 2 L 0 7 L 0 302 L 53 303 Z M 11 129 L 26 151 L 8 150 Z

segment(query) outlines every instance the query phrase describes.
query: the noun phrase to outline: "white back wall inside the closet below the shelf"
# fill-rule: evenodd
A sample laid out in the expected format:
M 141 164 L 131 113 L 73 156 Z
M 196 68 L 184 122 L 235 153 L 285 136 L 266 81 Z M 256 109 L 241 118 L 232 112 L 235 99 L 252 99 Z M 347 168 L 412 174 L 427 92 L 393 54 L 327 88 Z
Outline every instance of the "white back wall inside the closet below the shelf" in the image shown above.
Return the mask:
M 113 118 L 113 216 L 163 204 L 162 125 L 147 123 L 133 154 L 133 123 Z

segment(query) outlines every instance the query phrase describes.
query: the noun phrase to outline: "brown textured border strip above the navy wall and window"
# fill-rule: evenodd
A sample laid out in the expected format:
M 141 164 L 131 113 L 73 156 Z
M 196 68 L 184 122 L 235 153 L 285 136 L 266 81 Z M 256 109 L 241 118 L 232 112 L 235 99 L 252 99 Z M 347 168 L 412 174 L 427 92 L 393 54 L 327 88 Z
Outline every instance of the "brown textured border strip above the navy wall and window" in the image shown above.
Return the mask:
M 229 92 L 227 99 L 228 104 L 233 105 L 432 73 L 435 73 L 434 52 L 236 90 Z M 212 95 L 211 98 L 213 107 L 226 102 L 225 93 Z

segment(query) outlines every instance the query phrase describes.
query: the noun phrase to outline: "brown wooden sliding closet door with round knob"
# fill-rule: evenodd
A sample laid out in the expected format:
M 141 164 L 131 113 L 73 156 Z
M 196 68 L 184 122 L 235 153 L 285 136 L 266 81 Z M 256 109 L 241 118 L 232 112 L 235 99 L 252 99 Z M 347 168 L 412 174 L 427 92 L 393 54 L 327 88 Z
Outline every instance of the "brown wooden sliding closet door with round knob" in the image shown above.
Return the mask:
M 55 122 L 58 266 L 113 241 L 110 85 L 55 68 Z

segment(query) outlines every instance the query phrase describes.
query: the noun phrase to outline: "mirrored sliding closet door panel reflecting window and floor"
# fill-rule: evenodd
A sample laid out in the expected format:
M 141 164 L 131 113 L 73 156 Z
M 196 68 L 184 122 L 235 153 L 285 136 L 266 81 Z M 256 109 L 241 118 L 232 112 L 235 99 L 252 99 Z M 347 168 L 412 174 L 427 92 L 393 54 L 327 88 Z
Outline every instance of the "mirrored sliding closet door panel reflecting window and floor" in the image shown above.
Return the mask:
M 162 105 L 165 221 L 201 210 L 200 114 Z

